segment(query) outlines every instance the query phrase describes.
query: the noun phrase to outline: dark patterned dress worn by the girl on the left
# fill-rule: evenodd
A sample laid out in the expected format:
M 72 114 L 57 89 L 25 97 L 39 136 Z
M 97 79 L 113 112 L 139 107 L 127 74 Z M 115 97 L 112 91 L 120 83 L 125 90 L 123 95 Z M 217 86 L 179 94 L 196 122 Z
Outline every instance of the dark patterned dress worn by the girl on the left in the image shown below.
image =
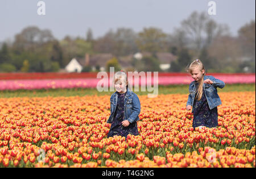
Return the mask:
M 129 126 L 127 127 L 124 127 L 122 125 L 123 113 L 125 111 L 124 101 L 125 101 L 125 95 L 127 94 L 127 91 L 123 94 L 120 94 L 120 93 L 117 93 L 117 94 L 118 94 L 117 109 L 115 110 L 114 119 L 108 133 L 108 138 L 113 137 L 114 135 L 125 136 L 125 138 L 127 137 L 128 134 L 139 135 L 137 122 L 130 123 Z

